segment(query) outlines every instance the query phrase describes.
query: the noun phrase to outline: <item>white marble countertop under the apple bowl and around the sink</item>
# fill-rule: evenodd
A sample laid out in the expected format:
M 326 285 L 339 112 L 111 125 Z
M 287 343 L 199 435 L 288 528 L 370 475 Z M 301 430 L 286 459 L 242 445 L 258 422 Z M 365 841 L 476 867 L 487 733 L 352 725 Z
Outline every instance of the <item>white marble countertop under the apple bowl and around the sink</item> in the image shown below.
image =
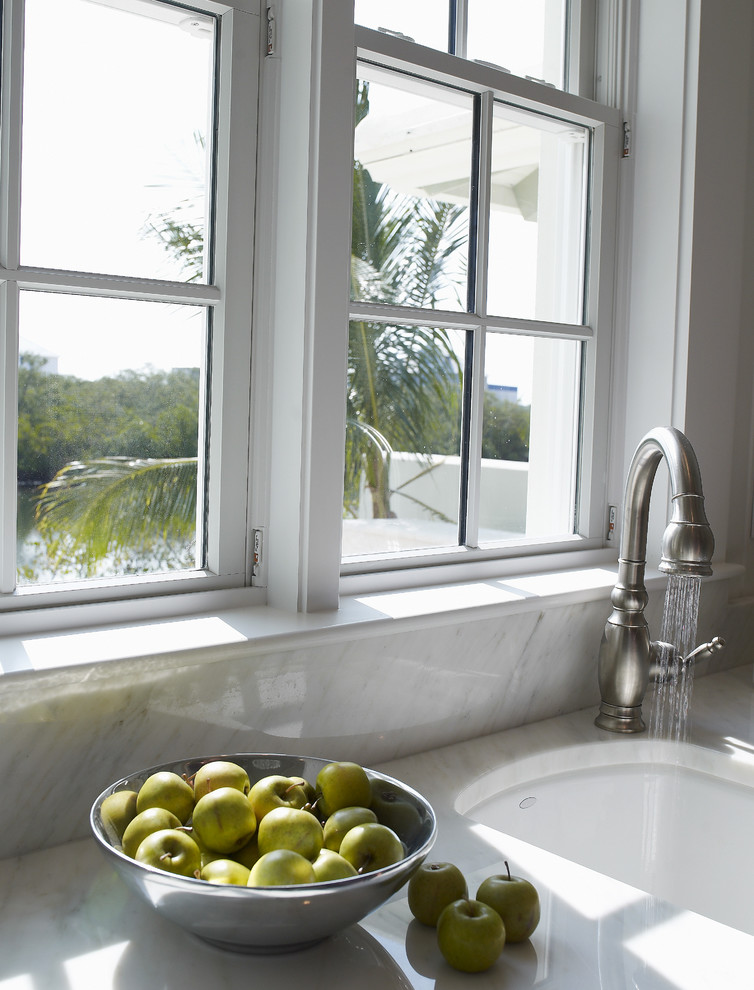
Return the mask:
M 405 889 L 360 925 L 301 952 L 250 956 L 214 948 L 137 900 L 85 839 L 0 862 L 0 990 L 750 990 L 754 937 L 454 810 L 465 786 L 503 762 L 585 741 L 620 745 L 621 737 L 593 727 L 593 717 L 576 712 L 378 768 L 432 802 L 438 839 L 431 858 L 457 863 L 472 894 L 504 860 L 537 884 L 537 931 L 529 942 L 506 946 L 486 973 L 447 966 L 434 931 L 411 920 Z M 731 736 L 754 749 L 751 667 L 698 678 L 694 688 L 690 740 L 724 751 Z

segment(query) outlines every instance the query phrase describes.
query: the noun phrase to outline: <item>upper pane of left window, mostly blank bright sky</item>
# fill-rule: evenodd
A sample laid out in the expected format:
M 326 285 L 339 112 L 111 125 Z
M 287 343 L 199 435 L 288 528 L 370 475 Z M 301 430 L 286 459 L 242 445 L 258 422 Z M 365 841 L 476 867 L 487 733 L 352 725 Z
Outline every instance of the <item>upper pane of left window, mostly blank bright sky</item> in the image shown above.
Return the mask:
M 214 22 L 139 9 L 26 0 L 24 265 L 207 279 Z

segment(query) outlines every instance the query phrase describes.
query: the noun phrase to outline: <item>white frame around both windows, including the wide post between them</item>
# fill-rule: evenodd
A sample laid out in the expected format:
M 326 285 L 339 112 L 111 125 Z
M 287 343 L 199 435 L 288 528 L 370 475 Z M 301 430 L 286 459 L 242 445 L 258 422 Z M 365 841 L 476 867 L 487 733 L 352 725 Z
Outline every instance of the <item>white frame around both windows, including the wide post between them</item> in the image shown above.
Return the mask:
M 6 40 L 19 37 L 18 3 L 5 0 Z M 578 7 L 589 8 L 592 3 L 581 0 Z M 81 626 L 265 603 L 288 613 L 316 612 L 336 610 L 340 594 L 360 588 L 421 585 L 459 575 L 482 578 L 512 569 L 525 573 L 553 566 L 555 556 L 556 567 L 585 562 L 582 550 L 604 546 L 611 373 L 610 336 L 605 329 L 609 331 L 612 318 L 612 211 L 622 139 L 618 112 L 529 80 L 509 75 L 503 79 L 504 74 L 486 66 L 464 68 L 466 85 L 478 87 L 479 92 L 507 93 L 520 105 L 534 109 L 552 105 L 595 128 L 591 210 L 593 217 L 598 210 L 601 219 L 592 229 L 587 324 L 590 332 L 597 328 L 598 346 L 590 348 L 585 370 L 586 380 L 595 384 L 594 401 L 583 413 L 585 536 L 575 539 L 567 554 L 550 555 L 546 546 L 539 547 L 537 555 L 507 560 L 466 553 L 438 567 L 431 566 L 436 563 L 432 559 L 420 562 L 426 565 L 422 567 L 341 577 L 356 55 L 377 52 L 381 58 L 394 59 L 397 67 L 406 67 L 413 64 L 417 46 L 407 47 L 400 39 L 356 27 L 353 0 L 279 0 L 272 5 L 269 34 L 260 0 L 204 0 L 193 6 L 221 17 L 222 50 L 231 55 L 230 62 L 222 63 L 219 83 L 220 133 L 226 138 L 218 148 L 218 196 L 226 205 L 232 204 L 232 209 L 227 210 L 227 226 L 221 229 L 221 224 L 217 232 L 218 242 L 225 244 L 225 252 L 218 249 L 218 262 L 222 256 L 229 259 L 224 271 L 217 265 L 222 298 L 211 301 L 215 382 L 210 498 L 218 509 L 208 528 L 212 567 L 205 574 L 99 584 L 95 592 L 65 588 L 34 597 L 16 592 L 0 598 L 0 610 L 22 611 L 35 629 L 41 628 L 37 617 L 42 613 L 33 606 L 79 602 L 92 604 L 83 609 L 49 609 L 51 618 L 45 624 L 51 628 Z M 586 29 L 579 28 L 577 37 L 572 33 L 572 51 L 579 46 L 589 48 L 590 31 L 591 22 Z M 8 50 L 20 49 L 9 44 Z M 259 80 L 256 62 L 248 58 L 248 52 L 260 50 L 267 50 L 267 57 L 260 66 L 257 159 Z M 421 53 L 435 78 L 445 76 L 457 82 L 454 56 L 428 49 Z M 7 58 L 5 72 L 15 85 L 19 71 L 15 56 Z M 7 85 L 4 93 L 7 103 Z M 12 106 L 3 106 L 3 123 L 3 161 L 8 170 L 4 186 L 12 188 L 18 179 L 18 162 L 8 151 L 18 147 L 19 125 Z M 17 258 L 9 254 L 17 230 L 13 215 L 6 215 L 7 228 L 0 236 L 0 265 L 5 269 L 0 272 L 4 276 L 0 300 L 12 315 L 14 294 L 29 275 L 18 269 Z M 253 293 L 252 229 L 256 241 Z M 100 283 L 90 286 L 92 291 L 101 288 Z M 125 288 L 137 295 L 150 289 L 143 283 L 129 283 Z M 164 288 L 160 285 L 160 291 Z M 108 286 L 108 291 L 113 287 Z M 186 298 L 185 286 L 177 286 L 176 291 Z M 189 296 L 195 291 L 190 287 Z M 250 327 L 252 316 L 253 336 L 245 331 L 223 332 L 231 322 Z M 16 538 L 15 524 L 8 523 L 15 511 L 15 473 L 7 465 L 15 463 L 17 360 L 13 335 L 6 335 L 0 352 L 0 383 L 5 386 L 0 401 L 6 414 L 0 435 L 5 472 L 0 502 L 3 498 L 6 502 L 6 522 L 0 528 L 3 559 L 7 559 L 11 541 L 15 547 Z M 227 530 L 217 525 L 219 519 L 224 524 L 230 521 Z M 262 557 L 256 567 L 252 566 L 252 532 L 262 539 Z M 8 577 L 2 575 L 6 584 Z M 28 627 L 23 615 L 17 618 L 13 628 Z

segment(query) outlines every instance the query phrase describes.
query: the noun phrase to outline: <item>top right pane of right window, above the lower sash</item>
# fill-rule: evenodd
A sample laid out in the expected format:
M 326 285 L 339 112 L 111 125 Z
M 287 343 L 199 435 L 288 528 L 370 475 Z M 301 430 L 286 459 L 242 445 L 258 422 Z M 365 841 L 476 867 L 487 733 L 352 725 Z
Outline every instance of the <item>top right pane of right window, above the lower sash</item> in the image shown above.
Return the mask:
M 468 58 L 563 86 L 565 0 L 468 0 Z

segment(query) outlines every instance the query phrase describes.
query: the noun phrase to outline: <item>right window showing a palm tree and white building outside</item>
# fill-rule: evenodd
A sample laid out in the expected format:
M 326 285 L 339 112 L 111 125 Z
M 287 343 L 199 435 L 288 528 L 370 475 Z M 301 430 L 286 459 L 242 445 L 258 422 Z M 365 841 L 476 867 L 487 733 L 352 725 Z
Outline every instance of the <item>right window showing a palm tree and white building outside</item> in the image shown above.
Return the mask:
M 519 8 L 544 83 L 474 61 Z M 597 545 L 617 114 L 563 92 L 562 3 L 402 11 L 356 6 L 344 571 Z

